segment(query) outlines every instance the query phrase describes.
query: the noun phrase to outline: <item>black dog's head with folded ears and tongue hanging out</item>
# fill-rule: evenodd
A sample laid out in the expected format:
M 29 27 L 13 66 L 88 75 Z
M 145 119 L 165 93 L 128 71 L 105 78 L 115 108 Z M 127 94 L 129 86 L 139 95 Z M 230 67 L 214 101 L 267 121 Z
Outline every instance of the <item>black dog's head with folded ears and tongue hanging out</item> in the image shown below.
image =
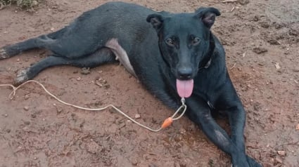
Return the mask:
M 218 15 L 216 8 L 198 8 L 195 13 L 161 12 L 146 18 L 158 33 L 160 51 L 177 78 L 181 97 L 191 95 L 193 78 L 210 60 L 215 48 L 210 28 Z

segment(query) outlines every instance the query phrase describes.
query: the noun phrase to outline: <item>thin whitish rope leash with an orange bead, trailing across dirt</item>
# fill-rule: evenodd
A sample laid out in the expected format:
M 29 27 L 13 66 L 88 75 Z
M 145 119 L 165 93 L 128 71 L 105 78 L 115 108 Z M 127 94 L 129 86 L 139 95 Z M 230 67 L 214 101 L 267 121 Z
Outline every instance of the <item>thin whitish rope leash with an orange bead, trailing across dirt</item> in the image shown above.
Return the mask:
M 29 81 L 26 81 L 26 82 L 20 84 L 20 86 L 18 86 L 18 87 L 15 87 L 15 86 L 13 86 L 13 85 L 11 85 L 11 84 L 0 84 L 0 86 L 9 86 L 9 87 L 13 88 L 13 91 L 12 91 L 12 92 L 9 94 L 9 96 L 8 96 L 8 97 L 12 100 L 12 99 L 15 97 L 16 91 L 17 91 L 19 88 L 21 88 L 22 86 L 24 86 L 25 84 L 27 84 L 27 83 L 37 83 L 39 86 L 41 86 L 41 87 L 44 89 L 44 91 L 45 91 L 48 95 L 50 95 L 52 98 L 56 99 L 58 102 L 61 102 L 63 105 L 68 105 L 68 106 L 75 107 L 75 108 L 77 108 L 77 109 L 84 109 L 84 110 L 88 110 L 88 111 L 101 111 L 101 110 L 103 110 L 103 109 L 107 109 L 108 107 L 112 107 L 112 108 L 115 109 L 117 112 L 119 112 L 119 113 L 122 114 L 123 116 L 127 117 L 127 119 L 131 120 L 132 122 L 136 123 L 137 125 L 139 125 L 139 126 L 141 126 L 141 127 L 143 127 L 143 128 L 146 128 L 147 130 L 149 130 L 149 131 L 153 131 L 153 132 L 158 132 L 158 131 L 162 130 L 163 128 L 166 128 L 167 126 L 170 126 L 170 124 L 172 123 L 172 121 L 175 121 L 175 120 L 177 120 L 177 119 L 180 119 L 180 118 L 184 115 L 184 113 L 186 112 L 186 109 L 187 109 L 187 107 L 186 107 L 186 105 L 185 105 L 185 99 L 182 98 L 182 100 L 181 100 L 181 102 L 182 102 L 181 107 L 179 107 L 179 108 L 177 109 L 177 111 L 174 112 L 174 114 L 173 114 L 171 117 L 169 117 L 168 119 L 165 119 L 163 125 L 162 125 L 160 128 L 158 128 L 158 129 L 155 130 L 155 129 L 153 129 L 153 128 L 149 128 L 148 126 L 145 126 L 145 125 L 139 123 L 138 121 L 135 121 L 134 119 L 132 119 L 130 116 L 128 116 L 127 114 L 125 114 L 124 112 L 122 112 L 120 109 L 118 109 L 118 108 L 115 107 L 114 105 L 107 105 L 106 107 L 101 107 L 101 108 L 94 108 L 94 109 L 91 109 L 91 108 L 80 107 L 80 106 L 77 106 L 77 105 L 72 105 L 72 104 L 70 104 L 70 103 L 68 103 L 68 102 L 64 102 L 63 100 L 60 100 L 60 99 L 57 98 L 55 95 L 53 95 L 51 92 L 49 92 L 49 91 L 45 88 L 45 86 L 44 86 L 42 83 L 39 83 L 38 81 L 29 80 Z M 181 113 L 179 116 L 177 116 L 177 117 L 175 118 L 175 116 L 176 116 L 182 109 L 183 109 L 182 113 Z

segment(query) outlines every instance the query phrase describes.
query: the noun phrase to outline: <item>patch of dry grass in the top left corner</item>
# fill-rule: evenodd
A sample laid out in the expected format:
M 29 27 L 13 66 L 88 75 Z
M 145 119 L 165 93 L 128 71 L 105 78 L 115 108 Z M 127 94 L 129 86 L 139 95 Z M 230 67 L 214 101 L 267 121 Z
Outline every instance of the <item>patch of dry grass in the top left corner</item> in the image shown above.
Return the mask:
M 6 6 L 17 5 L 20 8 L 33 8 L 39 4 L 40 0 L 0 0 L 0 9 Z

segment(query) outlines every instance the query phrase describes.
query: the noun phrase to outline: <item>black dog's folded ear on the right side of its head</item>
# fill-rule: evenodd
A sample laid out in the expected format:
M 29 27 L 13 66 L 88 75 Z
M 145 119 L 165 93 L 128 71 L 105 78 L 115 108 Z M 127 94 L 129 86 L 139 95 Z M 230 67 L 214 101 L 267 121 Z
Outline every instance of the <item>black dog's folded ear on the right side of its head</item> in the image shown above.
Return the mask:
M 220 15 L 220 11 L 217 8 L 198 8 L 196 10 L 196 17 L 200 18 L 201 21 L 207 26 L 209 29 L 214 25 L 216 16 Z

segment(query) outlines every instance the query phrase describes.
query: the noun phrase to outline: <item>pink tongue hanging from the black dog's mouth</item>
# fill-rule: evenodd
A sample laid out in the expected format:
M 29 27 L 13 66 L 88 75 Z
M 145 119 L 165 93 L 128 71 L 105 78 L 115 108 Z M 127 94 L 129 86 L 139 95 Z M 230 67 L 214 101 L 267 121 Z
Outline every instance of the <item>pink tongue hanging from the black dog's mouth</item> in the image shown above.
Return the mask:
M 181 98 L 189 98 L 193 91 L 193 79 L 179 80 L 177 79 L 177 93 Z

